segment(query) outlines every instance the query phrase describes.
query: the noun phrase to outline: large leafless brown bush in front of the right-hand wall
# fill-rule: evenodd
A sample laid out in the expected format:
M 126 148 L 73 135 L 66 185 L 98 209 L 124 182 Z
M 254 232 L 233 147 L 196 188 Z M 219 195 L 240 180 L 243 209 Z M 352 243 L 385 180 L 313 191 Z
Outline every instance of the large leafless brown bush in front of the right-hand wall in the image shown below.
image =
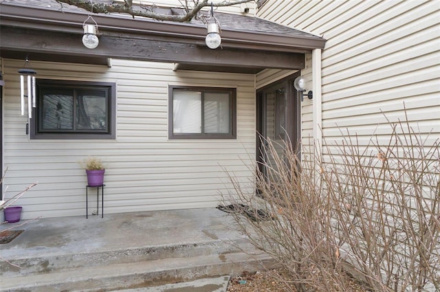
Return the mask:
M 439 141 L 389 124 L 384 144 L 346 134 L 302 159 L 267 140 L 259 196 L 235 183 L 236 223 L 288 271 L 286 291 L 351 291 L 351 276 L 374 291 L 440 291 Z

